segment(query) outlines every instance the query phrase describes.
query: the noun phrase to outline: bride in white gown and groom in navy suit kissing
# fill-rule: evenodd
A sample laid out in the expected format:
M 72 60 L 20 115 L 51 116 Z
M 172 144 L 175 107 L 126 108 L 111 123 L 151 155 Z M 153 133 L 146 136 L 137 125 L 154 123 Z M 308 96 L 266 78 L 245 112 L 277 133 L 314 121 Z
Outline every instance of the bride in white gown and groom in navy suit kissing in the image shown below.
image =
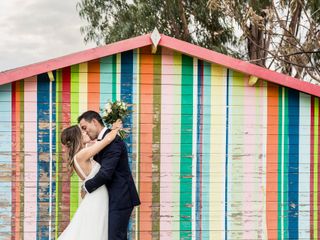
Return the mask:
M 99 113 L 87 111 L 78 123 L 62 131 L 61 143 L 69 167 L 83 180 L 83 200 L 58 239 L 127 239 L 130 215 L 140 199 L 119 137 L 122 120 L 107 129 Z

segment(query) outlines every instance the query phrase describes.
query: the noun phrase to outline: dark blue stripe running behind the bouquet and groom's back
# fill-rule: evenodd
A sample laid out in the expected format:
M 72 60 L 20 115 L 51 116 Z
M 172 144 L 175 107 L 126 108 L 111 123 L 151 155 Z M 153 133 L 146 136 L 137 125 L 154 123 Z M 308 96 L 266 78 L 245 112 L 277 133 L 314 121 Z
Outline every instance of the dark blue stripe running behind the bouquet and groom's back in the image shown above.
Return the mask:
M 133 96 L 133 51 L 121 53 L 121 100 L 130 104 L 132 110 L 132 96 Z M 132 114 L 125 120 L 124 127 L 132 126 Z M 132 131 L 128 138 L 125 139 L 128 149 L 128 161 L 130 169 L 132 169 Z M 129 221 L 128 229 L 132 229 L 132 219 Z M 129 240 L 133 238 L 133 231 L 128 231 Z

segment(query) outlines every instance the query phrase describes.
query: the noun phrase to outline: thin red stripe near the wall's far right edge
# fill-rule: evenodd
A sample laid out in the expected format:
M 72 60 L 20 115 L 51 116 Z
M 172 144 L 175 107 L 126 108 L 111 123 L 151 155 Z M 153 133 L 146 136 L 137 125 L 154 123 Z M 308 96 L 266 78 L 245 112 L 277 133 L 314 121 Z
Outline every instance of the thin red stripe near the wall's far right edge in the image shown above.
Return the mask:
M 311 134 L 310 134 L 310 239 L 313 239 L 313 181 L 314 181 L 314 97 L 311 97 Z

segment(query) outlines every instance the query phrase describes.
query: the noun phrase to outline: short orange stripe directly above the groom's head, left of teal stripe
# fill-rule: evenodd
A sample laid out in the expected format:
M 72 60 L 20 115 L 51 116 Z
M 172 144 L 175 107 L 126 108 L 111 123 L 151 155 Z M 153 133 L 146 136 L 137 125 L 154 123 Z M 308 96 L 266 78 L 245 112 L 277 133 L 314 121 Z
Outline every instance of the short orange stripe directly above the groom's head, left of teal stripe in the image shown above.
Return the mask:
M 100 111 L 100 61 L 88 62 L 88 110 Z

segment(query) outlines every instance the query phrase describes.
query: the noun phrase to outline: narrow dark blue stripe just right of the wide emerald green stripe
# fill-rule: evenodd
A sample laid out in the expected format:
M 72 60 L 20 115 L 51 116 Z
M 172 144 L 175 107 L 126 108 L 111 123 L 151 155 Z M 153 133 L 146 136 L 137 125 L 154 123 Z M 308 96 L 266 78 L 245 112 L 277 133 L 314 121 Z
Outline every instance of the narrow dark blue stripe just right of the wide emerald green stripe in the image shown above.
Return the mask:
M 201 146 L 200 146 L 200 140 L 201 140 L 201 135 L 200 135 L 200 131 L 201 131 L 201 125 L 202 123 L 202 113 L 203 113 L 203 102 L 202 102 L 202 98 L 203 96 L 202 94 L 202 90 L 203 90 L 203 61 L 198 60 L 198 108 L 197 108 L 197 166 L 196 166 L 196 239 L 200 239 L 200 230 L 201 230 L 201 226 L 200 226 L 200 193 L 201 193 L 201 189 L 200 189 L 200 173 L 201 173 L 201 169 L 200 169 L 200 163 L 201 163 Z

